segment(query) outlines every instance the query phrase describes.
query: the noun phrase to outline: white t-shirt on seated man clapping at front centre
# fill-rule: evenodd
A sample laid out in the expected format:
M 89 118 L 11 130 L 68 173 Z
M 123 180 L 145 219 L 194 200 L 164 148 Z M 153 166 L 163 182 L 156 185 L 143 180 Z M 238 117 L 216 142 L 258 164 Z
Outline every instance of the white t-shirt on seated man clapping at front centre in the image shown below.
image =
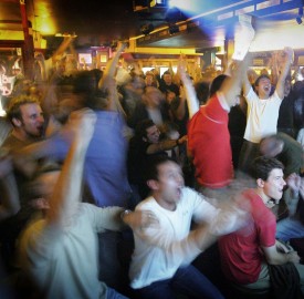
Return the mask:
M 159 206 L 151 196 L 137 205 L 136 209 L 154 212 L 159 225 L 134 231 L 135 250 L 129 269 L 134 289 L 169 279 L 181 265 L 189 265 L 201 252 L 195 236 L 189 235 L 191 219 L 211 223 L 219 214 L 201 194 L 187 187 L 182 189 L 181 199 L 174 212 Z

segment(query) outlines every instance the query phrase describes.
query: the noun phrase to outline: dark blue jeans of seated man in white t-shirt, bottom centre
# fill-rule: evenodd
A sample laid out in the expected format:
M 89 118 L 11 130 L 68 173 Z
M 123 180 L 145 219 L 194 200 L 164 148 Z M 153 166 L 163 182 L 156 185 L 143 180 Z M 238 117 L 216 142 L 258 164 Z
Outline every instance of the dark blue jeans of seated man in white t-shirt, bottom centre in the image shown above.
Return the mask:
M 171 279 L 153 282 L 137 291 L 145 299 L 174 299 L 176 292 L 197 299 L 223 299 L 220 291 L 192 265 L 179 268 Z

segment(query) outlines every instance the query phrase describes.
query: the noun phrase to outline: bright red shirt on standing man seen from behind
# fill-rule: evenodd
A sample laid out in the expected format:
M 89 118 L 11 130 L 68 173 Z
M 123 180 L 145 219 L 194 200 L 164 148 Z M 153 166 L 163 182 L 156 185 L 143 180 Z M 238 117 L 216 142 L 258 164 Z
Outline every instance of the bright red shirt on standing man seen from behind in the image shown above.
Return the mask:
M 196 177 L 211 188 L 227 186 L 233 177 L 228 112 L 217 95 L 190 120 L 188 148 L 193 156 Z

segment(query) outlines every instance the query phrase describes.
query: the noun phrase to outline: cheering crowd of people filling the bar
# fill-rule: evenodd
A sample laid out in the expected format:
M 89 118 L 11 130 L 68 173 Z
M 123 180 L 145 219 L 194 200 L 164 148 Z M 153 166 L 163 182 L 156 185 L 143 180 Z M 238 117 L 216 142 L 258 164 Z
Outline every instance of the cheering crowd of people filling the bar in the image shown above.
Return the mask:
M 72 71 L 55 59 L 71 41 L 36 55 L 39 83 L 20 80 L 1 120 L 0 295 L 224 298 L 192 264 L 216 244 L 239 291 L 303 298 L 289 245 L 304 243 L 293 50 L 276 72 L 250 70 L 248 54 L 206 81 L 182 56 L 161 76 L 122 69 L 125 43 L 105 70 Z

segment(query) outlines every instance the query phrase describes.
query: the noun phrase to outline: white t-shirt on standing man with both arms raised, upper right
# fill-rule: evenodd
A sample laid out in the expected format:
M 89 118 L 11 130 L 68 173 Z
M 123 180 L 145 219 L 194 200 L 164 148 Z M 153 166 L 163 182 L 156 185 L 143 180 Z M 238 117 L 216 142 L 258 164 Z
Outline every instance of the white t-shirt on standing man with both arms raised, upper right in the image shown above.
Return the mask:
M 276 134 L 279 110 L 282 103 L 276 91 L 269 99 L 261 100 L 251 87 L 245 99 L 248 110 L 244 138 L 259 143 L 263 137 Z

